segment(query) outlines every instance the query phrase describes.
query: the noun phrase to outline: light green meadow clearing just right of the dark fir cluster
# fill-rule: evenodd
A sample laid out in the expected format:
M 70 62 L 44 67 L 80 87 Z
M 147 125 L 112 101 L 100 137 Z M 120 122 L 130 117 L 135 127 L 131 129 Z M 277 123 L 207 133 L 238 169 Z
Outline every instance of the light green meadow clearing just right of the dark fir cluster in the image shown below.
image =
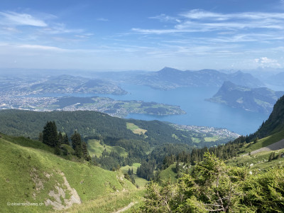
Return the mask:
M 124 158 L 126 158 L 128 155 L 128 153 L 125 151 L 125 148 L 122 148 L 120 146 L 108 146 L 106 144 L 102 145 L 98 140 L 95 139 L 88 140 L 87 148 L 91 157 L 94 155 L 97 155 L 97 157 L 101 156 L 104 149 L 106 149 L 108 153 L 110 153 L 111 151 L 119 153 L 119 155 Z

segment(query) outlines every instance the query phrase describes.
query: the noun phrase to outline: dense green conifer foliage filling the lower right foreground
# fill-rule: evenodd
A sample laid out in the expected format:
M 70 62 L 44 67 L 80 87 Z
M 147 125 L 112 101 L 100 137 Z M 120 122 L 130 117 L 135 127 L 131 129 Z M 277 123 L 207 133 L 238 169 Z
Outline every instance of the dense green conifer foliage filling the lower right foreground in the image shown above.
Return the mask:
M 177 183 L 148 185 L 139 212 L 282 212 L 284 168 L 267 173 L 229 167 L 205 153 Z

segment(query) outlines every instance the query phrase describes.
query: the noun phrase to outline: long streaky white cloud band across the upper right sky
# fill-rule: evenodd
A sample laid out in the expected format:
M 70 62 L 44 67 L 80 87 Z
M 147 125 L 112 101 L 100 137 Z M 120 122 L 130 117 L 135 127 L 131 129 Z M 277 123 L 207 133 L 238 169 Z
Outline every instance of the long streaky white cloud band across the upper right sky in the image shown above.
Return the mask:
M 174 18 L 162 14 L 155 16 L 161 21 L 173 22 Z M 132 28 L 131 31 L 143 34 L 190 33 L 208 31 L 240 31 L 244 29 L 283 30 L 284 13 L 212 13 L 195 9 L 181 13 L 178 23 L 172 28 L 143 29 Z

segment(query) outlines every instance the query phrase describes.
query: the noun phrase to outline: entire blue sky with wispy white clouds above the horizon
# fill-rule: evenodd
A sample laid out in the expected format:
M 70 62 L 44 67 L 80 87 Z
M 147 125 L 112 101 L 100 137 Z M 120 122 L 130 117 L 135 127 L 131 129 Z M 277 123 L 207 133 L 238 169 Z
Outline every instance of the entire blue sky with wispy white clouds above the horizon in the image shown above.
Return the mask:
M 284 0 L 2 0 L 0 67 L 284 68 Z

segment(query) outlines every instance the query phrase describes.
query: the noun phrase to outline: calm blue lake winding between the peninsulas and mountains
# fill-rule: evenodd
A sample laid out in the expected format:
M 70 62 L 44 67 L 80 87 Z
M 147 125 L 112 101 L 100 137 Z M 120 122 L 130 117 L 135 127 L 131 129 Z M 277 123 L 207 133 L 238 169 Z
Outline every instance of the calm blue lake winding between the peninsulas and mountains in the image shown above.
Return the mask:
M 207 102 L 204 99 L 212 97 L 218 87 L 182 87 L 168 91 L 152 89 L 142 85 L 121 84 L 128 94 L 43 94 L 43 97 L 110 97 L 116 100 L 141 100 L 144 102 L 158 102 L 180 106 L 187 114 L 157 116 L 148 114 L 129 114 L 126 118 L 141 120 L 170 121 L 174 124 L 213 126 L 226 128 L 239 134 L 255 132 L 262 122 L 268 119 L 268 114 L 234 109 L 223 104 Z M 36 95 L 38 96 L 38 94 Z

